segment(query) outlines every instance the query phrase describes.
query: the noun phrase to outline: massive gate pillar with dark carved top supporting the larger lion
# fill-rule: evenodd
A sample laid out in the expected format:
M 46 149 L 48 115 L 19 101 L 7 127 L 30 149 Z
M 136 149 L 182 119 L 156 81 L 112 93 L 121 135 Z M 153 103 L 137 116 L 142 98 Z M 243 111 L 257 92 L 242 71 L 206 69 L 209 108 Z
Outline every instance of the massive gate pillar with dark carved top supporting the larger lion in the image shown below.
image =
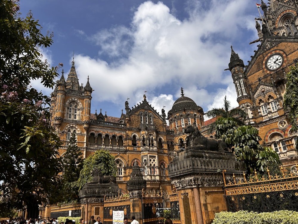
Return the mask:
M 240 178 L 245 171 L 243 162 L 229 152 L 188 149 L 180 151 L 168 166 L 169 177 L 177 188 L 182 223 L 207 224 L 215 212 L 226 211 L 225 176 Z

